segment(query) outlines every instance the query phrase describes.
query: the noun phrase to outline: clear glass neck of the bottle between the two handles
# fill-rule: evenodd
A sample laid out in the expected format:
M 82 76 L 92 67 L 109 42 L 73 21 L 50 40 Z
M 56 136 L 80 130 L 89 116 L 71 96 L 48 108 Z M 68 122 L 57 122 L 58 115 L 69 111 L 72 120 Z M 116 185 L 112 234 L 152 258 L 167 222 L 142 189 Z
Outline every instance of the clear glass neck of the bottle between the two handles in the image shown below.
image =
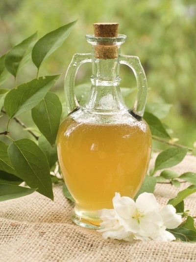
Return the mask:
M 95 46 L 92 46 L 92 88 L 85 108 L 98 112 L 116 112 L 126 108 L 119 87 L 119 54 L 114 59 L 99 59 L 95 56 Z

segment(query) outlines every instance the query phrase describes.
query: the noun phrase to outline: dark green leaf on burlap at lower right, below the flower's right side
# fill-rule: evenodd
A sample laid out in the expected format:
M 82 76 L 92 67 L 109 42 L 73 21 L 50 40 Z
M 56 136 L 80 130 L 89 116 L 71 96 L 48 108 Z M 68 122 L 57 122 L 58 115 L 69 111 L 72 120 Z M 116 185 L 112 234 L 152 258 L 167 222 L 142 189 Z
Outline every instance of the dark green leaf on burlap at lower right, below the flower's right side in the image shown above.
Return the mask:
M 176 228 L 167 229 L 176 238 L 182 240 L 183 242 L 196 242 L 196 232 L 193 230 L 188 230 L 186 228 Z

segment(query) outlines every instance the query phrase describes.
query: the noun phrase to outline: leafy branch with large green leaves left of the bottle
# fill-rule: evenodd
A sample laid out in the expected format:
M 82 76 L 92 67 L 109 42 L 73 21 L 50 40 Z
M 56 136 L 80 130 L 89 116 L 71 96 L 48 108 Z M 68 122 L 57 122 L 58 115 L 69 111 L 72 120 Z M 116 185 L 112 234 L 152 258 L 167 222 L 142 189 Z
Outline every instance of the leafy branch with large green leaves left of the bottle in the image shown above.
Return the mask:
M 9 74 L 15 78 L 15 88 L 0 89 L 0 111 L 8 116 L 6 131 L 0 135 L 5 135 L 11 141 L 9 146 L 0 141 L 0 201 L 26 196 L 34 191 L 53 200 L 50 169 L 57 161 L 54 144 L 62 105 L 58 96 L 49 92 L 49 89 L 60 75 L 36 78 L 18 87 L 17 75 L 31 58 L 39 72 L 42 62 L 63 44 L 75 23 L 56 29 L 37 42 L 35 33 L 0 58 L 0 85 L 8 79 Z M 1 110 L 2 106 L 4 109 Z M 32 118 L 43 134 L 40 137 L 17 117 L 28 110 L 31 110 Z M 30 139 L 14 141 L 8 135 L 11 119 L 25 128 L 38 141 L 38 145 Z M 23 181 L 30 188 L 21 187 Z

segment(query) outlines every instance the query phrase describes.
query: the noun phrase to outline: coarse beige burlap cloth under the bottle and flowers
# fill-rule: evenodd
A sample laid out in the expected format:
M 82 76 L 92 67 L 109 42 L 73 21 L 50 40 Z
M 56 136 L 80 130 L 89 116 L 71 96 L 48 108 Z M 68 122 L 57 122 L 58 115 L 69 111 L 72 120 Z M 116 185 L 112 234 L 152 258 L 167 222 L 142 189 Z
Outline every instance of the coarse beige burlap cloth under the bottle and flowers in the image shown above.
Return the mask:
M 151 161 L 153 164 L 154 158 Z M 174 168 L 196 172 L 196 158 L 187 156 Z M 157 184 L 155 196 L 164 205 L 180 188 Z M 62 184 L 54 186 L 54 202 L 37 192 L 0 203 L 0 262 L 187 262 L 196 261 L 196 244 L 155 241 L 124 242 L 73 224 L 73 204 L 64 198 Z M 196 194 L 186 200 L 196 215 Z

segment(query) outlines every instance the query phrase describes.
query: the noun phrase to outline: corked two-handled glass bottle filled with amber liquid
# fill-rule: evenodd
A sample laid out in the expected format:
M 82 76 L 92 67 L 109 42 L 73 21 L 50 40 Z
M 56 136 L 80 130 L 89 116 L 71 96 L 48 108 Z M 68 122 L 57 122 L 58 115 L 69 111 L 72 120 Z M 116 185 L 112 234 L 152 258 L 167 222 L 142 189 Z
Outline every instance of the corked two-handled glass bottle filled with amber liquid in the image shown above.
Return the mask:
M 59 127 L 58 159 L 64 181 L 75 200 L 74 223 L 98 228 L 97 210 L 113 208 L 115 192 L 133 198 L 147 172 L 151 134 L 142 119 L 147 80 L 138 57 L 121 55 L 126 36 L 118 24 L 94 24 L 86 35 L 91 54 L 75 54 L 65 78 L 69 115 Z M 79 66 L 92 62 L 92 87 L 84 106 L 74 95 Z M 137 99 L 130 110 L 119 87 L 120 64 L 128 65 L 137 81 Z

